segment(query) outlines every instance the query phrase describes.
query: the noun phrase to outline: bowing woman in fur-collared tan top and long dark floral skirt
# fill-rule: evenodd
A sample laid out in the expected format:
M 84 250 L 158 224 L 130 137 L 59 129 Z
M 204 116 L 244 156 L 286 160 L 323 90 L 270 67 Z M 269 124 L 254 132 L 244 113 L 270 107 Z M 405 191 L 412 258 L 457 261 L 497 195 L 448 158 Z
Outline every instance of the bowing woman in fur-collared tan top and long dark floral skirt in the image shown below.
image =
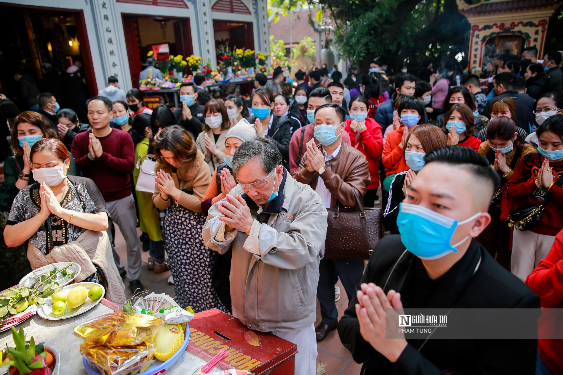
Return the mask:
M 175 299 L 182 308 L 191 306 L 196 312 L 226 311 L 211 283 L 213 251 L 202 240 L 206 219 L 202 198 L 211 182 L 209 166 L 193 137 L 180 125 L 160 130 L 153 147 L 157 159 L 153 202 L 166 210 L 162 237 Z

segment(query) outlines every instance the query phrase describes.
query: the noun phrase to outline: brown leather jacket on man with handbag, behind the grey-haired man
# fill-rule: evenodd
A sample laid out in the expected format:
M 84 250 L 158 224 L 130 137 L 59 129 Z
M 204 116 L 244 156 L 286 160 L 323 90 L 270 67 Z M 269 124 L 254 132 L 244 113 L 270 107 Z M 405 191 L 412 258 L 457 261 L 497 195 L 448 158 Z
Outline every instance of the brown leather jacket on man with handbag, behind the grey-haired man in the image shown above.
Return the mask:
M 318 147 L 320 150 L 321 146 L 319 145 Z M 356 207 L 352 187 L 360 193 L 360 199 L 363 199 L 370 181 L 368 161 L 365 159 L 364 154 L 349 144 L 342 142 L 338 155 L 334 159 L 327 161 L 326 164 L 327 167 L 320 177 L 332 194 L 330 206 L 336 206 L 336 200 L 338 200 L 345 207 Z M 309 171 L 307 163 L 303 163 L 303 161 L 301 161 L 299 168 L 293 174 L 294 179 L 311 186 L 313 190 L 316 188 L 318 177 L 319 173 L 317 171 Z

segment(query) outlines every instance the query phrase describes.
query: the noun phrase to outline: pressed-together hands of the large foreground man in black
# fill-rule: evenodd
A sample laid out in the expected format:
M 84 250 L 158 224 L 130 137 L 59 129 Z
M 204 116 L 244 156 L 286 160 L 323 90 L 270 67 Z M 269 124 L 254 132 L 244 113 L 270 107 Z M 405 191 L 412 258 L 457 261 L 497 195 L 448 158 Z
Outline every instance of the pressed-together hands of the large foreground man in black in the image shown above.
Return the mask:
M 404 335 L 401 335 L 403 338 L 397 339 L 385 338 L 386 309 L 403 309 L 401 295 L 394 290 L 385 295 L 382 288 L 374 283 L 363 283 L 360 288 L 361 290 L 356 292 L 356 317 L 360 323 L 360 334 L 373 349 L 391 362 L 396 362 L 407 342 Z M 399 314 L 395 310 L 387 310 L 387 314 L 395 315 L 390 317 L 389 321 L 396 322 L 399 332 Z M 392 324 L 395 326 L 395 323 Z

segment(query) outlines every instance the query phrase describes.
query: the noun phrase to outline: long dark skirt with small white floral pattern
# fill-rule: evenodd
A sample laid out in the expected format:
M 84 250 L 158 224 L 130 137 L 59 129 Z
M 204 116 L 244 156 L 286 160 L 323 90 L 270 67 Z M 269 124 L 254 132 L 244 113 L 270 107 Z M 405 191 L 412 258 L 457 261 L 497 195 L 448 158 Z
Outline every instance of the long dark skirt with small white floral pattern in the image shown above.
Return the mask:
M 175 300 L 196 313 L 213 308 L 228 312 L 211 283 L 213 250 L 203 243 L 205 219 L 203 213 L 180 205 L 168 207 L 164 214 L 162 237 L 174 277 Z

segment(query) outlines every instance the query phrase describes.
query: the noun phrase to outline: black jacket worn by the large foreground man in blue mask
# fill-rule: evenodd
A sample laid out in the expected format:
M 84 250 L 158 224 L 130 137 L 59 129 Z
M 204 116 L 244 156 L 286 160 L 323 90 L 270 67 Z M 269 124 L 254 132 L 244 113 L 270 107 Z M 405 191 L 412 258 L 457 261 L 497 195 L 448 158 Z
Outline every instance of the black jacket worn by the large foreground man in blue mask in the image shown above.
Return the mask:
M 462 260 L 454 264 L 453 272 L 444 274 L 427 308 L 539 309 L 539 297 L 502 268 L 474 238 Z M 399 235 L 386 236 L 374 249 L 361 283 L 373 282 L 383 287 L 388 279 L 384 292 L 392 289 L 402 295 L 409 286 L 412 270 L 421 263 L 418 257 L 405 252 Z M 354 360 L 364 363 L 362 374 L 443 375 L 446 369 L 464 375 L 535 374 L 537 340 L 430 339 L 421 351 L 421 340 L 413 340 L 397 362 L 390 363 L 361 336 L 355 312 L 357 302 L 354 296 L 348 304 L 338 322 L 338 335 Z M 404 306 L 409 307 L 417 306 Z M 526 328 L 535 330 L 535 324 Z

